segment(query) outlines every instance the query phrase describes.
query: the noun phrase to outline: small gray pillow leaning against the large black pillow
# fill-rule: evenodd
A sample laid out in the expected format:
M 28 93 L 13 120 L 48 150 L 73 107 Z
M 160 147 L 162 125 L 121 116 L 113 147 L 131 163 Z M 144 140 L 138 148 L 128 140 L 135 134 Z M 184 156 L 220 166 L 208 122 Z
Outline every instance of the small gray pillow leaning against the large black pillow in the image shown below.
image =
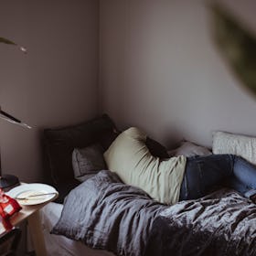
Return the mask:
M 106 169 L 103 148 L 100 144 L 92 144 L 84 148 L 75 148 L 72 153 L 74 176 L 81 182 L 99 171 Z

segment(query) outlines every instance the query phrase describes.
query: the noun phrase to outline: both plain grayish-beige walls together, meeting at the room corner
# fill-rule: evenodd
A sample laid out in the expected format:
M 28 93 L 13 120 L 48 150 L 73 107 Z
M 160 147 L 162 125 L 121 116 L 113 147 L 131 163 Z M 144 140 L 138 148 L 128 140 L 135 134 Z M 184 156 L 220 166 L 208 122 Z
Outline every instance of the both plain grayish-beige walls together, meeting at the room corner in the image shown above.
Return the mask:
M 255 1 L 221 2 L 256 33 Z M 101 0 L 99 16 L 97 0 L 2 1 L 0 36 L 28 54 L 0 46 L 0 104 L 34 127 L 0 122 L 3 172 L 41 181 L 42 129 L 99 111 L 165 145 L 210 146 L 215 130 L 256 135 L 255 98 L 219 56 L 207 3 Z

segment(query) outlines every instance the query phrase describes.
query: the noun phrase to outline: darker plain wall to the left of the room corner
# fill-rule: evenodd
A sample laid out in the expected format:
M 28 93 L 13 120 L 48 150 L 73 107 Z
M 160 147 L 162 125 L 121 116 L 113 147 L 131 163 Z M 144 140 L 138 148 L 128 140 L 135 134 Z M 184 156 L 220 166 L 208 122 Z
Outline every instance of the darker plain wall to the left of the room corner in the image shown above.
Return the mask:
M 0 104 L 33 126 L 0 122 L 3 173 L 40 181 L 41 130 L 98 112 L 98 7 L 95 0 L 1 1 L 0 37 L 28 54 L 0 45 Z

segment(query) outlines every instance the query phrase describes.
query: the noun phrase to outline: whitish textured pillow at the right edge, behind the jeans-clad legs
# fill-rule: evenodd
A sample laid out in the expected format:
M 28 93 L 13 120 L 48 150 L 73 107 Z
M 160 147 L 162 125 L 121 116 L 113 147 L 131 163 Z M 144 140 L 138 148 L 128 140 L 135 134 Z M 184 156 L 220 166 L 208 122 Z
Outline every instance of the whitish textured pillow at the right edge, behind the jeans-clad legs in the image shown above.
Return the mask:
M 256 165 L 256 138 L 216 132 L 213 134 L 212 152 L 213 154 L 239 155 Z

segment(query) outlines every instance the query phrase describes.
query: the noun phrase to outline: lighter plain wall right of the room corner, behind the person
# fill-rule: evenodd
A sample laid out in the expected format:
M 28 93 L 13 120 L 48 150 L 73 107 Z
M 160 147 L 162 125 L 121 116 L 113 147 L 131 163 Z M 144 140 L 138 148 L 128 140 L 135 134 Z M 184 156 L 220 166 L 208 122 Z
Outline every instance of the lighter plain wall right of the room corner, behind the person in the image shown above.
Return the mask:
M 256 35 L 256 2 L 223 0 Z M 256 135 L 256 99 L 210 37 L 208 1 L 101 1 L 101 109 L 168 145 L 211 145 L 216 130 Z

